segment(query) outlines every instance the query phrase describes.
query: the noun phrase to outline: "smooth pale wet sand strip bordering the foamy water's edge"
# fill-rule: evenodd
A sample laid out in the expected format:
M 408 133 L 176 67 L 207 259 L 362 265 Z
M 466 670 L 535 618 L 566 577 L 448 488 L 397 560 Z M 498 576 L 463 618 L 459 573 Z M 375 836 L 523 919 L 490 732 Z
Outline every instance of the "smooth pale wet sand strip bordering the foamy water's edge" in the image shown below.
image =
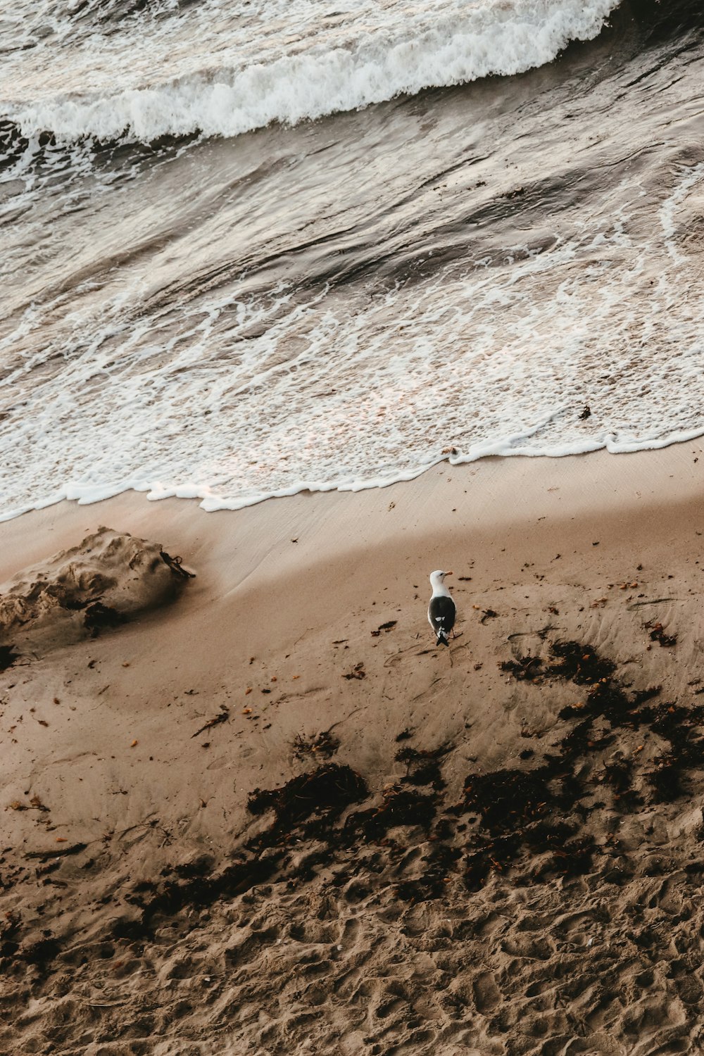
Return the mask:
M 145 530 L 151 522 L 157 533 L 184 530 L 191 522 L 188 538 L 197 540 L 202 534 L 215 535 L 216 520 L 229 517 L 241 523 L 248 544 L 258 549 L 256 540 L 269 531 L 280 545 L 296 531 L 305 527 L 310 508 L 318 506 L 313 522 L 327 525 L 340 516 L 350 532 L 354 547 L 369 543 L 387 543 L 397 530 L 422 533 L 430 528 L 422 517 L 422 505 L 434 503 L 438 515 L 444 514 L 441 533 L 454 539 L 458 531 L 476 530 L 481 524 L 500 524 L 511 518 L 530 521 L 534 516 L 560 516 L 571 518 L 601 508 L 613 513 L 624 503 L 642 508 L 668 503 L 688 502 L 704 493 L 704 441 L 687 440 L 666 448 L 612 455 L 600 449 L 559 458 L 516 456 L 488 456 L 474 463 L 452 466 L 440 463 L 423 471 L 412 480 L 398 482 L 383 488 L 361 491 L 298 492 L 293 495 L 266 498 L 253 506 L 239 510 L 204 511 L 197 498 L 148 499 L 142 492 L 121 492 L 111 498 L 80 505 L 62 499 L 38 510 L 28 510 L 8 521 L 0 522 L 0 582 L 13 570 L 22 567 L 22 552 L 34 554 L 24 564 L 47 557 L 43 545 L 35 547 L 28 536 L 41 533 L 58 540 L 59 549 L 77 542 L 77 533 L 85 526 L 126 521 L 120 530 Z M 670 483 L 672 482 L 672 483 Z M 443 485 L 453 487 L 445 489 Z M 464 495 L 468 495 L 465 498 Z M 376 541 L 368 534 L 364 522 L 382 517 L 398 504 L 399 513 L 394 518 L 383 517 L 375 525 L 379 533 Z M 461 503 L 462 506 L 452 504 Z M 196 504 L 196 505 L 194 505 Z M 507 506 L 509 507 L 507 509 Z M 355 511 L 359 508 L 359 512 Z M 347 516 L 349 511 L 350 516 Z M 451 518 L 450 513 L 459 513 Z M 395 524 L 402 520 L 402 523 Z M 455 522 L 455 523 L 452 523 Z M 459 522 L 459 529 L 457 527 Z M 195 526 L 197 525 L 197 529 Z M 313 523 L 313 528 L 317 528 Z M 303 542 L 299 538 L 299 543 Z M 316 536 L 316 546 L 321 545 Z M 167 544 L 165 544 L 167 545 Z M 324 545 L 324 544 L 323 544 Z M 305 544 L 300 547 L 304 550 Z M 324 545 L 324 552 L 330 546 Z M 299 551 L 300 552 L 300 551 Z

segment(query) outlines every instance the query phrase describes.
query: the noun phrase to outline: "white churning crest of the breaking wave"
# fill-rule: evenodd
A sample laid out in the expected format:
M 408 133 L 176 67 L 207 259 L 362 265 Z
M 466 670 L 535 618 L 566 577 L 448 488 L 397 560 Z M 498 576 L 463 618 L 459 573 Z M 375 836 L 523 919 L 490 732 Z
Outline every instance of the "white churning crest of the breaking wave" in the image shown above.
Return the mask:
M 571 40 L 597 36 L 613 6 L 612 0 L 495 2 L 463 18 L 436 19 L 414 35 L 397 27 L 349 48 L 313 42 L 299 54 L 243 68 L 234 61 L 158 87 L 73 93 L 2 109 L 24 136 L 51 131 L 61 142 L 236 136 L 273 121 L 294 125 L 427 88 L 525 72 L 552 61 Z

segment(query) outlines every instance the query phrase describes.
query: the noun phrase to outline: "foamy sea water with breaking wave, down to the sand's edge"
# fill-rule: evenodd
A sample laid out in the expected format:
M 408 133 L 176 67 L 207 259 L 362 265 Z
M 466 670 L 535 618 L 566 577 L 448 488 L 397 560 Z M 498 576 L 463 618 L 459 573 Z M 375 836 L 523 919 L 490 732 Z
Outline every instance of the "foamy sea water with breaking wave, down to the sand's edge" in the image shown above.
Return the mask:
M 704 13 L 0 3 L 0 517 L 704 433 Z

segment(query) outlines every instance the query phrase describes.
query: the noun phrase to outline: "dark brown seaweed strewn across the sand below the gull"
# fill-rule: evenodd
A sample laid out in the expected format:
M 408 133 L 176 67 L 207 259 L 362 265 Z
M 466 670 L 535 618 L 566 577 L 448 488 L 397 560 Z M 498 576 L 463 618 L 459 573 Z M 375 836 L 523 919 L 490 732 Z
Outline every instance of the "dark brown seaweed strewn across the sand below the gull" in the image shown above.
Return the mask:
M 442 898 L 453 879 L 476 890 L 493 874 L 509 871 L 516 884 L 578 875 L 593 868 L 596 854 L 610 855 L 604 874 L 609 882 L 627 882 L 632 871 L 629 860 L 614 856 L 616 845 L 600 849 L 584 823 L 593 810 L 623 813 L 645 795 L 653 802 L 669 802 L 686 794 L 687 771 L 704 766 L 704 738 L 700 736 L 704 705 L 655 703 L 660 686 L 634 691 L 624 685 L 611 660 L 577 642 L 552 644 L 548 661 L 528 656 L 511 663 L 517 677 L 529 681 L 550 677 L 584 686 L 583 699 L 559 713 L 569 722 L 562 739 L 540 756 L 525 751 L 520 753 L 525 765 L 470 773 L 455 804 L 449 804 L 443 794 L 442 763 L 451 744 L 431 750 L 400 747 L 396 760 L 405 766 L 405 773 L 374 800 L 364 778 L 337 763 L 299 774 L 274 789 L 255 789 L 247 806 L 250 814 L 264 819 L 264 827 L 260 823 L 259 831 L 240 846 L 225 868 L 215 871 L 213 860 L 204 855 L 164 870 L 157 882 L 135 885 L 126 901 L 137 909 L 137 917 L 119 918 L 114 935 L 142 937 L 153 929 L 158 916 L 177 913 L 185 906 L 208 906 L 258 884 L 294 886 L 312 878 L 321 865 L 338 866 L 330 882 L 357 884 L 354 897 L 358 898 L 368 889 L 364 873 L 391 866 L 395 895 L 407 902 Z M 509 664 L 502 665 L 505 670 L 511 670 Z M 361 664 L 355 668 L 359 670 Z M 225 717 L 216 716 L 198 733 Z M 620 728 L 647 729 L 663 742 L 660 754 L 645 767 L 639 765 L 644 744 L 631 748 L 628 755 L 600 756 Z M 412 735 L 404 730 L 396 740 L 407 741 Z M 338 743 L 328 730 L 307 738 L 299 735 L 293 750 L 299 757 L 325 758 L 337 751 Z M 596 790 L 605 803 L 595 802 Z M 270 818 L 265 819 L 269 812 Z M 404 836 L 403 829 L 419 829 L 420 834 Z M 407 854 L 410 844 L 423 848 L 420 859 Z M 49 861 L 83 847 L 30 856 Z M 14 932 L 3 932 L 0 939 L 4 956 L 30 963 L 43 963 L 56 950 L 53 938 L 45 947 L 24 951 Z

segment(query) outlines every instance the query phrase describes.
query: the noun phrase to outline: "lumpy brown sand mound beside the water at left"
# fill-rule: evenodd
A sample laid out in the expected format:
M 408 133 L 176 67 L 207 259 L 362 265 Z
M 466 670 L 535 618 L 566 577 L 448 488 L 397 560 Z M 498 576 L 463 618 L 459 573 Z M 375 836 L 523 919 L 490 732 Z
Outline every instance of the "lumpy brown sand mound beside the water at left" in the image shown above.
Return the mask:
M 119 626 L 172 601 L 190 574 L 159 543 L 98 528 L 0 587 L 0 664 Z

